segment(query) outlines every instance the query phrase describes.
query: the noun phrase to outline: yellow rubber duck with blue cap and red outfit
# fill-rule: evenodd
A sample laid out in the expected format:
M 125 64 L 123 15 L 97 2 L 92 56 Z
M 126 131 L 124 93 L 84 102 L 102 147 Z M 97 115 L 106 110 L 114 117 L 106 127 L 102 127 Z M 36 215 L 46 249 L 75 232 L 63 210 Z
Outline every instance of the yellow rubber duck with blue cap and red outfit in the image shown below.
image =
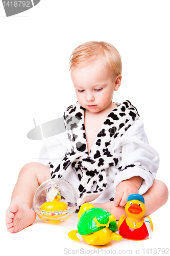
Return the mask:
M 149 216 L 145 214 L 144 198 L 139 194 L 131 194 L 125 206 L 127 213 L 118 221 L 120 236 L 130 240 L 145 240 L 152 236 L 153 223 Z

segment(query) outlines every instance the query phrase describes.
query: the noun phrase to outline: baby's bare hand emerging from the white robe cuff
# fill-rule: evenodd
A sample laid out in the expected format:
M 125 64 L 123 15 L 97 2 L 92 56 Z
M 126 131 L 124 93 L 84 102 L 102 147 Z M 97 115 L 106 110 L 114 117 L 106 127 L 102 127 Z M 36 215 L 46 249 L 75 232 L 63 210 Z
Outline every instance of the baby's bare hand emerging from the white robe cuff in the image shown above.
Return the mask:
M 120 182 L 116 187 L 115 206 L 125 206 L 129 195 L 138 194 L 142 181 L 143 179 L 140 176 L 134 176 Z

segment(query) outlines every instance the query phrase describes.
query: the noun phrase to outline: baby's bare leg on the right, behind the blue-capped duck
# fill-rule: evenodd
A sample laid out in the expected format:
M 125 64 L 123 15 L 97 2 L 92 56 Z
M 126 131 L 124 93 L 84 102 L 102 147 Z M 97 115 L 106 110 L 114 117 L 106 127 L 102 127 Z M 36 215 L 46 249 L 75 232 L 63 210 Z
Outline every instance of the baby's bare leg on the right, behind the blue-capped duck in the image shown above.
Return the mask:
M 162 181 L 154 180 L 153 185 L 142 196 L 144 197 L 144 204 L 146 208 L 144 216 L 149 216 L 167 202 L 168 189 Z M 116 217 L 116 220 L 119 220 L 123 214 L 127 216 L 125 207 L 115 206 L 114 201 L 93 205 L 109 211 Z

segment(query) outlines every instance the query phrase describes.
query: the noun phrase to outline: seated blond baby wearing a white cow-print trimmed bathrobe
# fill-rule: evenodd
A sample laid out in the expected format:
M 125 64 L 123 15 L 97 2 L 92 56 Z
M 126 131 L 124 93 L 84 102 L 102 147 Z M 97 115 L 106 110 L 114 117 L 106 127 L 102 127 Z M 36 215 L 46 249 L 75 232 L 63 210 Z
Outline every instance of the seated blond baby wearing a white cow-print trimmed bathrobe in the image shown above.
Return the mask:
M 144 197 L 145 216 L 167 201 L 166 185 L 155 180 L 159 156 L 148 144 L 136 108 L 128 100 L 113 102 L 122 80 L 118 51 L 106 42 L 87 42 L 72 52 L 70 74 L 78 101 L 66 109 L 67 130 L 57 136 L 61 159 L 51 160 L 50 167 L 35 162 L 22 167 L 6 212 L 9 232 L 35 221 L 35 191 L 50 178 L 68 180 L 77 189 L 79 205 L 91 202 L 116 220 L 125 214 L 130 194 Z

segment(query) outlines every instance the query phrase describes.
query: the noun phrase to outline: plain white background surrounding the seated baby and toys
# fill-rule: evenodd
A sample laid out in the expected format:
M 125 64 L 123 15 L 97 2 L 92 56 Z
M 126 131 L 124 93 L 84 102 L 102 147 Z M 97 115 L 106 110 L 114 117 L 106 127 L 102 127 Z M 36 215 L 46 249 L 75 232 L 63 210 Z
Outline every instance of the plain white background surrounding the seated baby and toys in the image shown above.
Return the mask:
M 37 220 L 15 234 L 5 227 L 18 172 L 27 162 L 37 161 L 43 144 L 27 138 L 33 118 L 37 125 L 56 119 L 76 102 L 68 59 L 83 42 L 111 42 L 122 56 L 122 86 L 114 101 L 128 99 L 138 109 L 149 142 L 160 154 L 157 179 L 169 187 L 169 7 L 168 0 L 41 0 L 26 12 L 6 17 L 0 2 L 1 250 L 5 255 L 65 255 L 80 248 L 85 254 L 85 249 L 95 248 L 67 237 L 76 229 L 76 215 L 62 226 Z M 143 248 L 169 248 L 168 213 L 169 203 L 152 214 L 155 229 L 150 240 L 111 242 L 104 247 L 110 250 L 106 253 L 132 249 L 137 254 L 140 249 L 143 254 Z

